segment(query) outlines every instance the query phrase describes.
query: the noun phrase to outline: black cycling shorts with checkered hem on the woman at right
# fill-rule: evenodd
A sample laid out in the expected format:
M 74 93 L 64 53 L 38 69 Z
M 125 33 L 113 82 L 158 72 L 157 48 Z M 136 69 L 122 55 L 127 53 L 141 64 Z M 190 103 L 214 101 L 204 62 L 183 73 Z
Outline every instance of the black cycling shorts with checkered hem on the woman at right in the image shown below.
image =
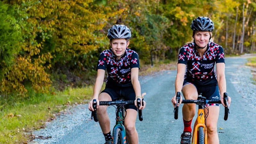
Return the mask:
M 186 84 L 193 84 L 192 82 L 188 80 L 184 80 L 183 87 Z M 220 100 L 220 90 L 218 85 L 209 85 L 209 86 L 200 86 L 195 85 L 198 95 L 202 95 L 202 97 L 206 97 L 206 100 Z M 220 106 L 220 104 L 217 103 L 208 103 L 206 106 Z

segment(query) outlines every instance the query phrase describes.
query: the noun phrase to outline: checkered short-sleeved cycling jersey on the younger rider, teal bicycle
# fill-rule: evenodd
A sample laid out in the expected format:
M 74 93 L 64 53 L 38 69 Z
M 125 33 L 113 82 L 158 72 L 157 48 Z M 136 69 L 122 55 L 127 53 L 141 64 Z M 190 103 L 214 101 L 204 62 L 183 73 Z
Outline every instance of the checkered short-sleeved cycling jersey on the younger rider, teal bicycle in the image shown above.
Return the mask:
M 126 48 L 124 55 L 117 60 L 112 49 L 100 53 L 97 69 L 104 69 L 108 72 L 106 86 L 132 86 L 131 69 L 140 68 L 139 55 L 129 48 Z

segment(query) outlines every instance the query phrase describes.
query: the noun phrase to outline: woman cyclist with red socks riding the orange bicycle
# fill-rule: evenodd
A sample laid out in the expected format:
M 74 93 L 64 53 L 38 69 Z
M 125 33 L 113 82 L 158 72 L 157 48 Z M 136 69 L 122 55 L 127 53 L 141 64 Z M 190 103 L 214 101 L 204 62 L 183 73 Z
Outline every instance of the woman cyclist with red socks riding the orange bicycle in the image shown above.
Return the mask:
M 223 48 L 210 42 L 214 24 L 207 17 L 197 17 L 191 23 L 193 42 L 181 47 L 178 60 L 175 93 L 182 91 L 187 100 L 196 100 L 199 94 L 207 100 L 221 100 L 223 106 L 223 93 L 226 92 L 225 58 Z M 216 72 L 214 65 L 216 62 Z M 182 98 L 180 98 L 182 99 Z M 182 100 L 180 100 L 181 103 Z M 228 97 L 230 105 L 231 98 Z M 179 104 L 180 104 L 179 103 Z M 173 106 L 176 104 L 176 95 L 172 98 Z M 178 106 L 179 106 L 178 104 Z M 219 117 L 219 104 L 207 104 L 209 115 L 207 117 L 207 142 L 218 144 L 217 121 Z M 207 113 L 207 109 L 205 108 Z M 184 104 L 182 108 L 184 131 L 180 143 L 191 143 L 191 122 L 196 112 L 196 104 Z

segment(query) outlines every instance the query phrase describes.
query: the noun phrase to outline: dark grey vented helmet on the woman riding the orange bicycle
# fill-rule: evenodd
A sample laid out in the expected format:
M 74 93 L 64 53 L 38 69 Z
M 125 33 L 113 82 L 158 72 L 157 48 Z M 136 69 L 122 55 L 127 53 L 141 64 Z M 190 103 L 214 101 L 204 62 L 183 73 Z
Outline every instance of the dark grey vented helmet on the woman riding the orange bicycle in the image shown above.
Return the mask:
M 212 20 L 208 17 L 197 17 L 191 23 L 192 30 L 199 30 L 199 31 L 213 31 L 214 24 Z

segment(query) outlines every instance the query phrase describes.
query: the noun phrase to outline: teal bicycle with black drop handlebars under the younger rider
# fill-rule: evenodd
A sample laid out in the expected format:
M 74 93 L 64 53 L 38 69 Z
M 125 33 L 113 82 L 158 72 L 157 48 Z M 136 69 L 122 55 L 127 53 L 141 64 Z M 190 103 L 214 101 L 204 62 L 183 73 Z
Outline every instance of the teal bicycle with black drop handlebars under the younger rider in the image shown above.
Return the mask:
M 143 100 L 144 98 L 142 98 L 142 106 L 144 106 Z M 113 128 L 113 144 L 128 144 L 127 135 L 124 128 L 124 118 L 126 116 L 125 114 L 126 110 L 124 108 L 124 105 L 130 105 L 130 104 L 134 104 L 134 100 L 123 101 L 123 99 L 121 98 L 120 100 L 116 100 L 116 101 L 100 101 L 100 106 L 103 106 L 103 105 L 117 106 L 117 107 L 114 106 L 116 108 L 116 125 Z M 97 102 L 94 99 L 92 104 L 94 111 L 92 111 L 91 119 L 94 119 L 95 122 L 98 122 L 96 106 L 97 106 Z M 137 99 L 137 106 L 138 108 L 140 107 L 140 99 Z M 142 110 L 138 109 L 138 113 L 139 113 L 139 120 L 142 121 L 143 120 Z

